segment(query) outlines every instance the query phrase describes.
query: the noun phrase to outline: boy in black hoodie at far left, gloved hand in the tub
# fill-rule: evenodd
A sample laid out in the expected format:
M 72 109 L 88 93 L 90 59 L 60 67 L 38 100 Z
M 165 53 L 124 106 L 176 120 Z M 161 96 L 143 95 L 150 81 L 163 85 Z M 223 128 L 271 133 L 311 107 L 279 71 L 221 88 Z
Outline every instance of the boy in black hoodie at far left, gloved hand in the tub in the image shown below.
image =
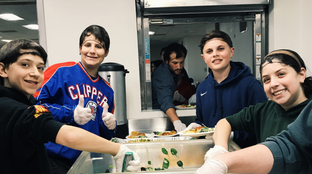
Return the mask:
M 122 168 L 124 145 L 110 142 L 80 128 L 53 120 L 50 111 L 33 105 L 33 94 L 44 80 L 47 53 L 31 40 L 15 40 L 0 49 L 0 170 L 5 174 L 51 174 L 44 143 L 113 155 Z M 131 151 L 132 152 L 132 151 Z M 127 170 L 139 171 L 140 157 L 133 152 Z

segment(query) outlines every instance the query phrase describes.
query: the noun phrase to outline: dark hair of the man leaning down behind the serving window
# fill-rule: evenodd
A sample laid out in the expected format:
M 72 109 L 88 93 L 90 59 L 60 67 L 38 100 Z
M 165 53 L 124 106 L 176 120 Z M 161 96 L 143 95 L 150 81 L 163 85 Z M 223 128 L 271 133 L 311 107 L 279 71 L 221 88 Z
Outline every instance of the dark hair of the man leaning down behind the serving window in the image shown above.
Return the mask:
M 185 58 L 187 55 L 187 49 L 183 46 L 183 44 L 178 44 L 178 43 L 169 44 L 165 49 L 163 59 L 170 61 L 170 55 L 172 53 L 177 54 L 176 58 L 180 58 L 180 57 Z

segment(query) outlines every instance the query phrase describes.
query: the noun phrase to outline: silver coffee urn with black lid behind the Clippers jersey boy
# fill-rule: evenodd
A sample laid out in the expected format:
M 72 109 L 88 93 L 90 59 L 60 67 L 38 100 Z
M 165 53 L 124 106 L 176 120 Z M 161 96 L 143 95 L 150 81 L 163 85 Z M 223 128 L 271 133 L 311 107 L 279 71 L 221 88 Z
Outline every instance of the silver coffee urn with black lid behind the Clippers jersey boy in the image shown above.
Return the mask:
M 117 138 L 125 138 L 129 135 L 126 106 L 126 82 L 125 77 L 129 71 L 118 63 L 102 63 L 98 69 L 99 75 L 110 84 L 114 91 L 115 111 L 117 121 Z

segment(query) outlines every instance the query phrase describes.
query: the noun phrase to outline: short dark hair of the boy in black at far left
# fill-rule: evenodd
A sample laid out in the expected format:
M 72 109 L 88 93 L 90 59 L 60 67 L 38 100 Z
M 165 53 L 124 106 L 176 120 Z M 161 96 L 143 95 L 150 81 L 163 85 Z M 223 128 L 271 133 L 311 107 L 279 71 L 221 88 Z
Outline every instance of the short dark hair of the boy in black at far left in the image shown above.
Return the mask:
M 20 53 L 21 49 L 29 50 L 24 53 Z M 17 59 L 23 54 L 33 54 L 41 57 L 46 65 L 48 54 L 45 49 L 36 42 L 28 39 L 18 39 L 11 41 L 0 49 L 0 62 L 4 64 L 4 67 L 16 62 Z M 0 85 L 3 86 L 3 78 L 0 77 Z

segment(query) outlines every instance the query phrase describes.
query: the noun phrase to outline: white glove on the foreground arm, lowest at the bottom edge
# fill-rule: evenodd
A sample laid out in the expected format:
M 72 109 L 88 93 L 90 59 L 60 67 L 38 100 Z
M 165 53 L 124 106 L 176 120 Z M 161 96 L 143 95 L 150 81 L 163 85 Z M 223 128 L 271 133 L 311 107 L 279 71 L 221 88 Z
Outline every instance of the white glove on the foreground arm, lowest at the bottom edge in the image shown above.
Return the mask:
M 195 174 L 227 174 L 227 166 L 218 159 L 210 158 Z

